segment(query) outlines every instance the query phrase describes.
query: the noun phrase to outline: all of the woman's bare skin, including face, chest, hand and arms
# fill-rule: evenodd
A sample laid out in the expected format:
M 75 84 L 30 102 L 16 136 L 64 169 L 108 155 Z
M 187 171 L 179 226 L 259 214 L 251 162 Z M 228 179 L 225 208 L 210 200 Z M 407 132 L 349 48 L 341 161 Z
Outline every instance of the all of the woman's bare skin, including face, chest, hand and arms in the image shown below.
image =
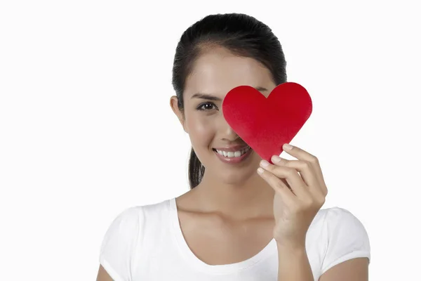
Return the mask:
M 186 79 L 184 110 L 178 108 L 177 97 L 171 97 L 173 112 L 206 167 L 201 183 L 176 198 L 182 233 L 193 253 L 210 265 L 244 261 L 275 239 L 279 280 L 313 280 L 305 234 L 327 195 L 318 159 L 300 148 L 284 147 L 297 160 L 274 156 L 274 164 L 268 164 L 252 152 L 239 164 L 227 164 L 212 150 L 245 144 L 225 121 L 221 107 L 226 93 L 239 85 L 253 86 L 266 97 L 276 86 L 258 61 L 213 48 L 199 56 Z M 108 278 L 100 266 L 97 280 Z M 340 263 L 319 280 L 338 278 L 368 280 L 368 260 Z

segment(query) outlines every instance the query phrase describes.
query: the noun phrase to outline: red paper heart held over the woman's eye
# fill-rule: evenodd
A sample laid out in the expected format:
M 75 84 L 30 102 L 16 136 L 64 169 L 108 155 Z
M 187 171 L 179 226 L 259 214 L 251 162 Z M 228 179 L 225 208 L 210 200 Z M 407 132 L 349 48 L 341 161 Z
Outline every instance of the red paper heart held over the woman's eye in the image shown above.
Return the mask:
M 266 98 L 251 86 L 227 93 L 222 112 L 231 128 L 262 159 L 280 155 L 312 114 L 312 99 L 300 84 L 286 82 Z

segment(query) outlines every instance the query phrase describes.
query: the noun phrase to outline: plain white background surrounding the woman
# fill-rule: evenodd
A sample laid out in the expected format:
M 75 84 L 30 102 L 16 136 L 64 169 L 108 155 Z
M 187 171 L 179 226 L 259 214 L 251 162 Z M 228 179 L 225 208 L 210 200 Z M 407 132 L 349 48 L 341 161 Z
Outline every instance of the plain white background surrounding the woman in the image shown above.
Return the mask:
M 227 12 L 272 27 L 288 81 L 312 96 L 291 144 L 319 157 L 323 208 L 366 227 L 370 280 L 419 277 L 412 3 L 1 1 L 0 279 L 95 280 L 117 214 L 189 190 L 189 138 L 169 106 L 173 55 L 189 25 Z

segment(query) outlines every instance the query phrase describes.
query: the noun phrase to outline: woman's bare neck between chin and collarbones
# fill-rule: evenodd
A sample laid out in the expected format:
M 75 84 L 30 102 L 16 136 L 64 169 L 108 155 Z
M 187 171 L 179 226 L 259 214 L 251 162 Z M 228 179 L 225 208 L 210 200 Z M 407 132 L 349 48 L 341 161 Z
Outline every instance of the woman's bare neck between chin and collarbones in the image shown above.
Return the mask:
M 274 190 L 258 174 L 241 183 L 224 183 L 205 172 L 194 192 L 205 212 L 217 212 L 234 220 L 273 217 Z

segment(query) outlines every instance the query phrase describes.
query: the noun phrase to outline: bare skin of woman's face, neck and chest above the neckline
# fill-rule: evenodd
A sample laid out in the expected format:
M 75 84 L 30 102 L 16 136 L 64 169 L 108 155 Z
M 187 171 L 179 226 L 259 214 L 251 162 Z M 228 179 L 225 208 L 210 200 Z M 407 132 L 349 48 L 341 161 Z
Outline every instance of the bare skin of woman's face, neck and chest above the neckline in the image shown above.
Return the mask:
M 213 265 L 246 260 L 273 238 L 274 190 L 256 173 L 261 158 L 253 152 L 239 164 L 226 164 L 212 150 L 245 145 L 221 110 L 226 93 L 239 85 L 254 86 L 265 96 L 276 86 L 269 70 L 256 60 L 213 48 L 199 56 L 186 79 L 184 111 L 177 97 L 171 98 L 175 115 L 206 166 L 201 183 L 176 198 L 180 226 L 194 254 Z M 213 98 L 196 98 L 196 93 Z

